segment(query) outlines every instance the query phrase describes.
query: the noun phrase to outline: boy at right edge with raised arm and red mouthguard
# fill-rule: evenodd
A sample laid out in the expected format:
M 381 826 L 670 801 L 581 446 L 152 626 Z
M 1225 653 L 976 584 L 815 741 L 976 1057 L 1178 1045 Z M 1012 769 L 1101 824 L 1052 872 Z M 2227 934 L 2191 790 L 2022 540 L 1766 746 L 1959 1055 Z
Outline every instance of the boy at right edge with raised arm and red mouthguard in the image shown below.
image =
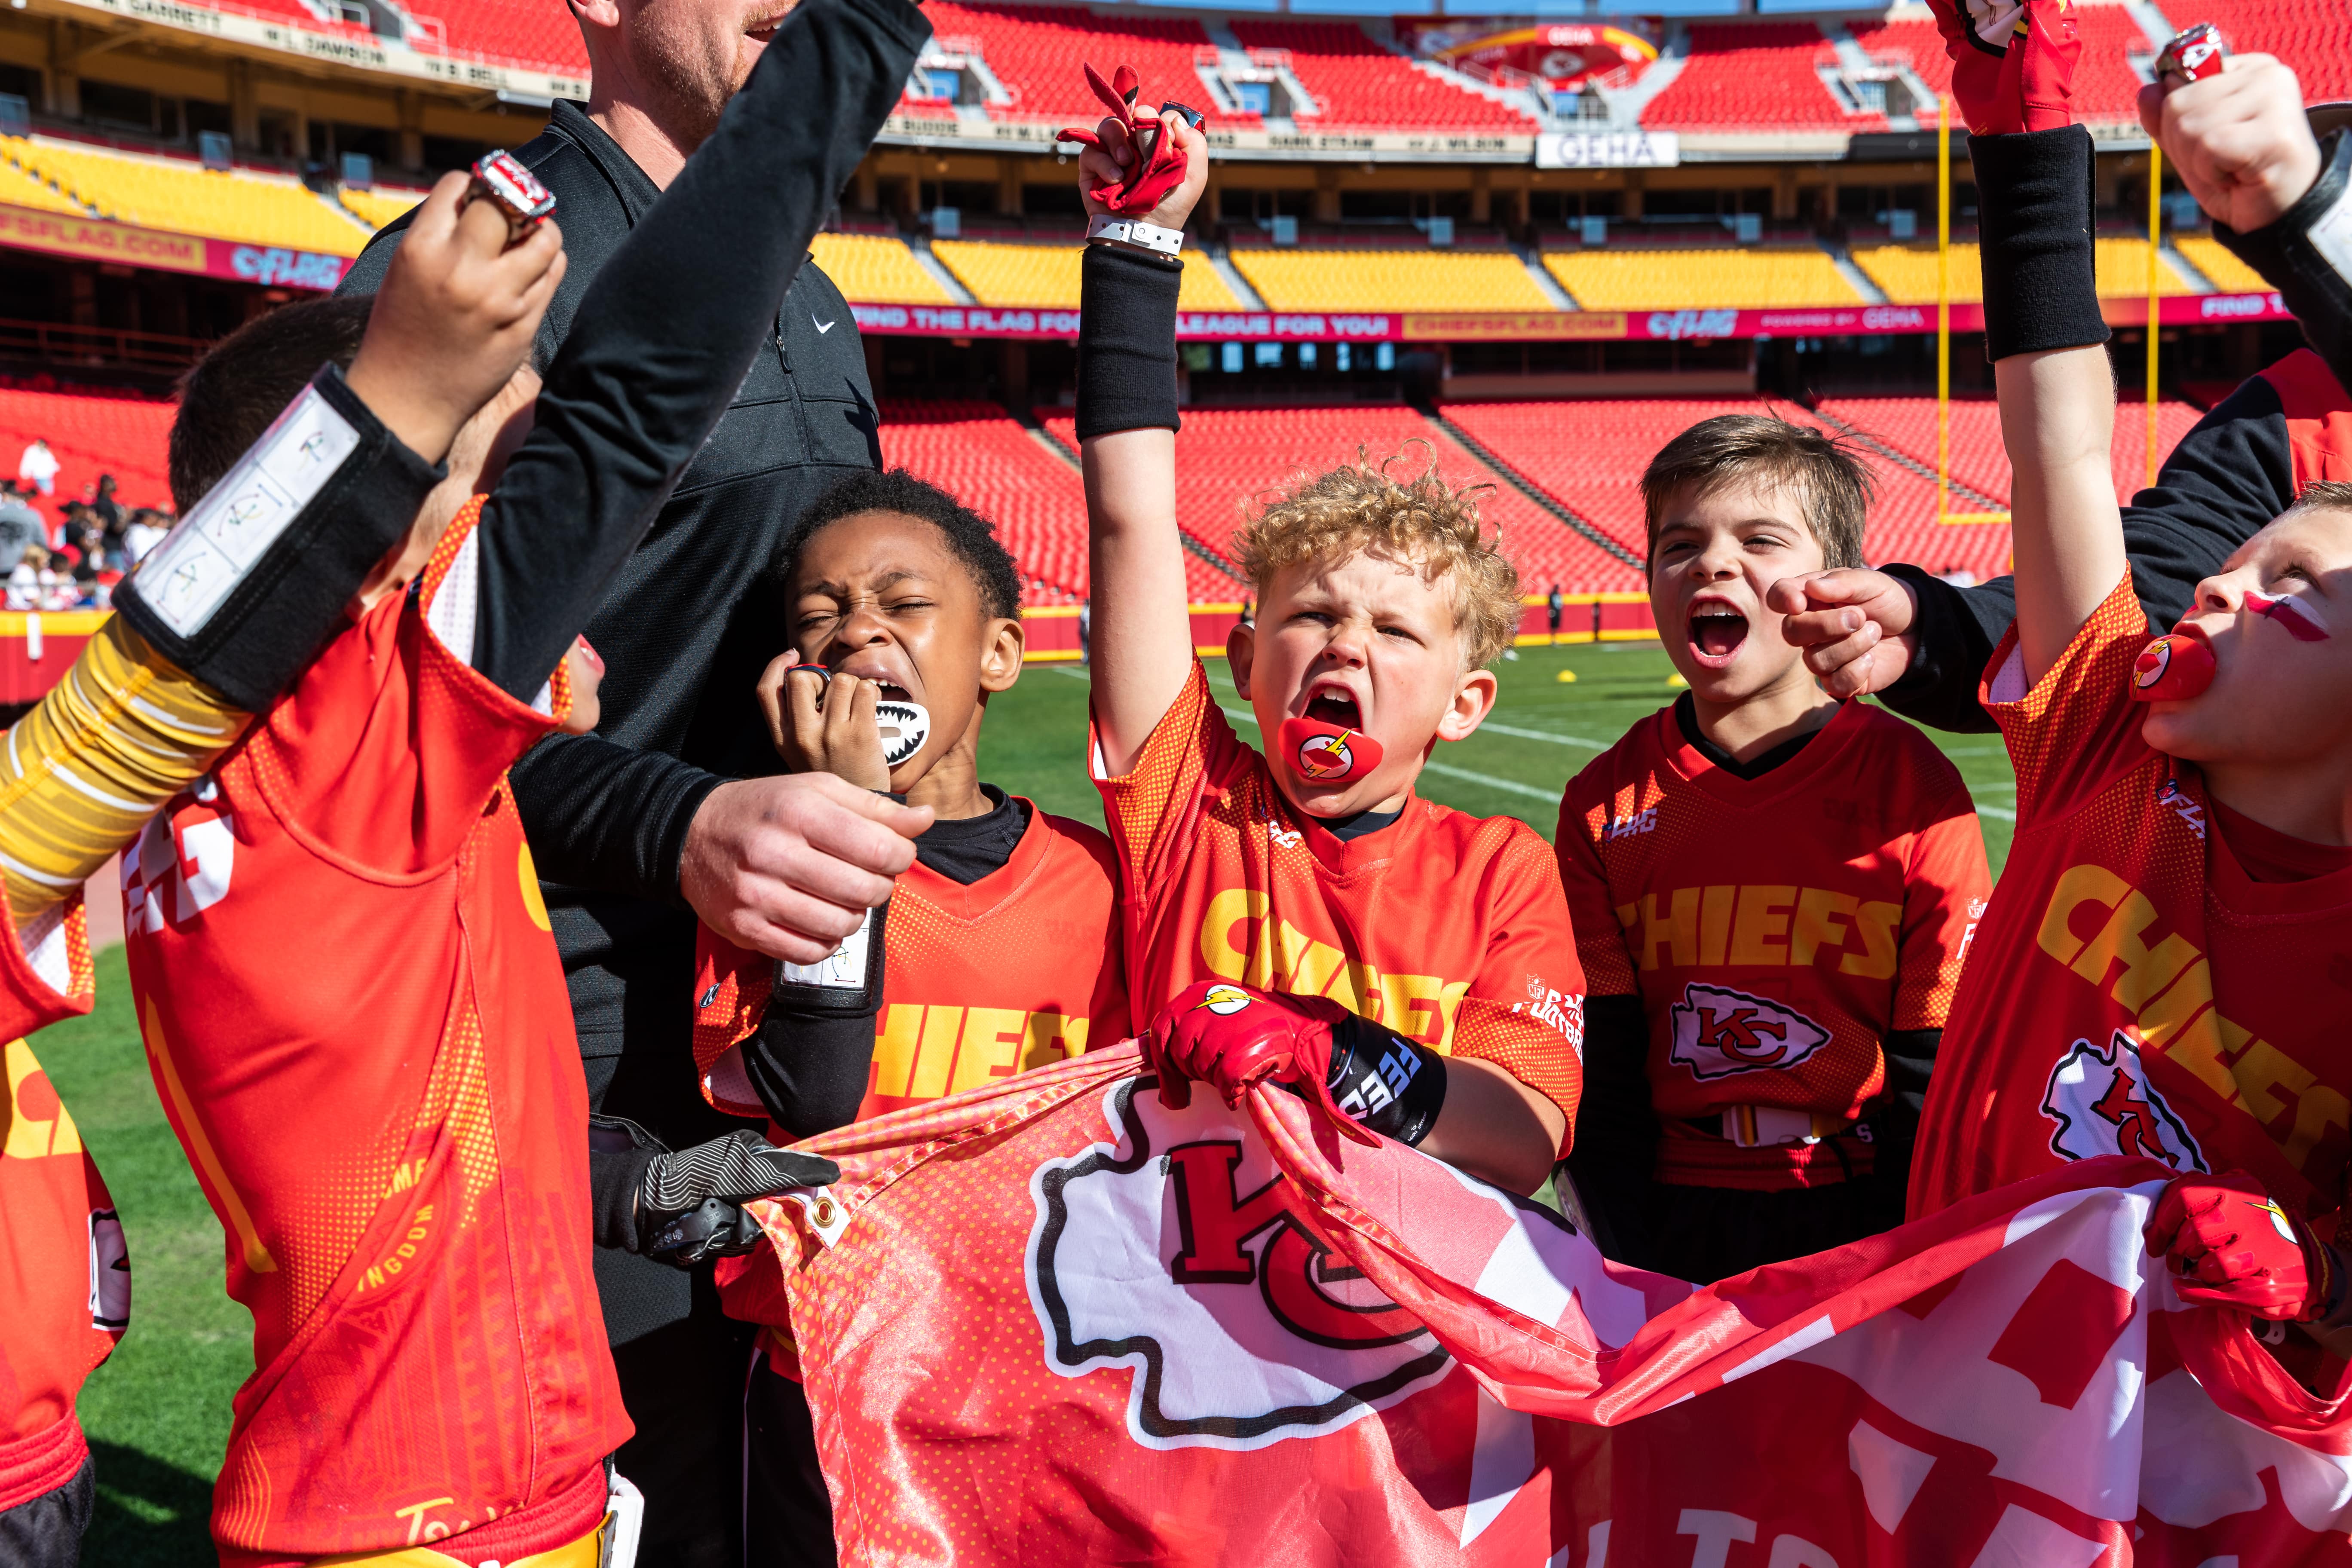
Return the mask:
M 2032 78 L 2072 59 L 2065 40 L 2067 12 L 2032 0 L 2009 47 Z M 2150 642 L 2107 465 L 2091 136 L 2065 113 L 2023 125 L 1969 141 L 2018 480 L 2018 614 L 1983 696 L 2018 832 L 1952 1006 L 1912 1211 L 2070 1159 L 2164 1161 L 2183 1178 L 2150 1246 L 2180 1295 L 2340 1354 L 2352 1058 L 2328 997 L 2352 940 L 2352 484 L 2305 487 Z M 2321 1392 L 2343 1371 L 2303 1338 L 2279 1356 Z

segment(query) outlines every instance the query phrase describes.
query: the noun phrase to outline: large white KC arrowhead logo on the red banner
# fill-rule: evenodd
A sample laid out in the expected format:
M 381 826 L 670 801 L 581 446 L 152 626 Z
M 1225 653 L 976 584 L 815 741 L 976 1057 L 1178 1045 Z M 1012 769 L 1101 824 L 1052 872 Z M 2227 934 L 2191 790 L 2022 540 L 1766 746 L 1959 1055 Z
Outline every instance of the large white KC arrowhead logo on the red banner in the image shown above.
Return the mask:
M 1129 1434 L 1150 1448 L 1263 1448 L 1334 1432 L 1428 1387 L 1451 1356 L 1291 1208 L 1261 1138 L 1195 1093 L 1127 1079 L 1117 1147 L 1030 1178 L 1030 1305 L 1047 1363 L 1131 1368 Z

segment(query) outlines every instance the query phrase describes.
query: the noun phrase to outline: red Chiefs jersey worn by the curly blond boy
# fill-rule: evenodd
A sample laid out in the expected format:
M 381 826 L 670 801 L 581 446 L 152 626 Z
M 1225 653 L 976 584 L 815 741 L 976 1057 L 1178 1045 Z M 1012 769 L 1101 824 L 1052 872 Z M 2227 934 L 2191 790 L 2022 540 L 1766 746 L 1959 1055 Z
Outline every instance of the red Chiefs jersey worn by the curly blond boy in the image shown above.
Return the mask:
M 1101 773 L 1101 745 L 1091 745 Z M 1576 1128 L 1585 976 L 1552 849 L 1508 816 L 1409 797 L 1338 839 L 1192 679 L 1120 778 L 1096 776 L 1127 882 L 1138 1027 L 1195 980 L 1331 997 L 1543 1093 Z

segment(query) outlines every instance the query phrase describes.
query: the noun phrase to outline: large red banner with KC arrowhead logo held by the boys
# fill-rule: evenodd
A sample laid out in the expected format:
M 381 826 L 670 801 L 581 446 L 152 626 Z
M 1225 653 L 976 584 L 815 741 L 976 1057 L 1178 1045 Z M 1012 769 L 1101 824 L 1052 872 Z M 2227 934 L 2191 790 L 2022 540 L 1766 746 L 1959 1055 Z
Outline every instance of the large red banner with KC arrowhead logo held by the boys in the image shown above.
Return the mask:
M 844 1563 L 2352 1561 L 2352 1422 L 2100 1159 L 1693 1288 L 1131 1046 L 816 1140 L 729 1309 L 800 1354 Z

